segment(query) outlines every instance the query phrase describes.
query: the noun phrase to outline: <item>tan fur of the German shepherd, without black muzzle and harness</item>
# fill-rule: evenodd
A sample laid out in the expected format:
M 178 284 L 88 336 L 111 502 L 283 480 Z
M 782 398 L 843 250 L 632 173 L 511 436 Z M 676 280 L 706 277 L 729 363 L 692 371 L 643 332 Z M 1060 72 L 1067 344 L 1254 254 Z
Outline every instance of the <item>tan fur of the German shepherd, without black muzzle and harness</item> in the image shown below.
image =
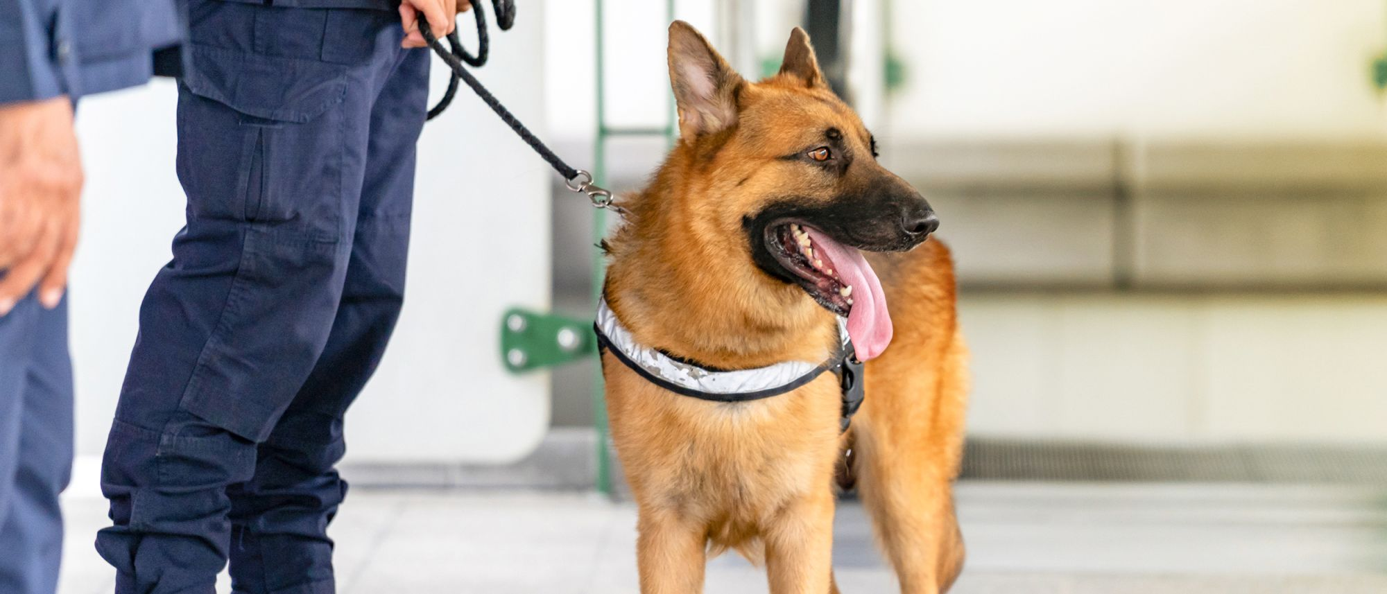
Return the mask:
M 671 26 L 677 94 L 675 51 L 692 47 L 691 33 Z M 757 269 L 742 230 L 742 218 L 768 200 L 832 198 L 835 187 L 779 158 L 825 124 L 868 150 L 861 122 L 816 80 L 813 50 L 796 35 L 782 74 L 749 83 L 721 72 L 713 99 L 735 97 L 735 121 L 721 103 L 696 107 L 649 187 L 623 200 L 630 215 L 608 241 L 606 297 L 641 344 L 728 369 L 822 361 L 832 351 L 834 315 Z M 716 53 L 712 60 L 725 68 Z M 684 103 L 696 97 L 680 99 L 688 115 L 694 108 Z M 603 357 L 612 439 L 639 507 L 642 593 L 702 591 L 707 554 L 725 548 L 764 559 L 773 594 L 836 593 L 832 484 L 849 439 L 857 487 L 902 591 L 940 593 L 953 583 L 963 563 L 951 482 L 967 379 L 950 255 L 929 240 L 868 258 L 896 333 L 867 364 L 867 397 L 850 436 L 838 430 L 831 373 L 784 396 L 721 404 L 664 391 Z

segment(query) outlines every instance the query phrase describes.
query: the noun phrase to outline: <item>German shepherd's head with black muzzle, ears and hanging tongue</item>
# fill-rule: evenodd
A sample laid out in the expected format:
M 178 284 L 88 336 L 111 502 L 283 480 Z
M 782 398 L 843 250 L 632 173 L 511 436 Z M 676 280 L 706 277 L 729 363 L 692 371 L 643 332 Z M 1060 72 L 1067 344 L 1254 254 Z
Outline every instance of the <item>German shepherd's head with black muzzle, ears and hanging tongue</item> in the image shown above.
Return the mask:
M 675 21 L 669 67 L 680 144 L 646 194 L 681 204 L 644 207 L 678 208 L 685 217 L 664 225 L 684 226 L 691 250 L 743 254 L 738 266 L 755 283 L 847 316 L 859 355 L 879 354 L 890 319 L 860 250 L 910 250 L 939 221 L 877 162 L 871 132 L 829 89 L 809 36 L 796 28 L 779 72 L 749 82 Z

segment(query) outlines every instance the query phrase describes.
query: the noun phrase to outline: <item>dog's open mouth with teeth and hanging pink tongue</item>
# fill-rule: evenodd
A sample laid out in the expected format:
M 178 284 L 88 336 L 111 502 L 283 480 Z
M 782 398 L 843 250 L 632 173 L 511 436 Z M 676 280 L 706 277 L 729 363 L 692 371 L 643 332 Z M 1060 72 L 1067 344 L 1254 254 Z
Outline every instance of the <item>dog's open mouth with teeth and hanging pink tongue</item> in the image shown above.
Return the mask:
M 867 361 L 890 344 L 886 294 L 877 272 L 854 247 L 800 222 L 766 228 L 766 250 L 804 293 L 825 309 L 847 318 L 857 358 Z

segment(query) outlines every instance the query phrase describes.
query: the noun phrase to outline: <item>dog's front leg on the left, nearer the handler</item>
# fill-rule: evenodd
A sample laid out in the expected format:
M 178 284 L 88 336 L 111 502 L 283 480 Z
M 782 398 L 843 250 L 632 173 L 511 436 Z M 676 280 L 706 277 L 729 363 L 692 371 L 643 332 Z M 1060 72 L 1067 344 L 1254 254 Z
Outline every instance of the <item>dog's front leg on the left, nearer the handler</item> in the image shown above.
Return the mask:
M 635 559 L 641 594 L 699 594 L 707 563 L 706 530 L 671 509 L 641 508 Z

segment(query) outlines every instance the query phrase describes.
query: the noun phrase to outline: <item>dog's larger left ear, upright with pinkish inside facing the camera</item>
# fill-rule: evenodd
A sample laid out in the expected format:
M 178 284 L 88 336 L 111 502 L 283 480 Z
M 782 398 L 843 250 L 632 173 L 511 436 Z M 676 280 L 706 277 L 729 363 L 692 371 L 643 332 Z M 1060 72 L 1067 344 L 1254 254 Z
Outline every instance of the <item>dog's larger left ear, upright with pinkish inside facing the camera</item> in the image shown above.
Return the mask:
M 681 136 L 691 139 L 731 128 L 743 83 L 698 29 L 684 21 L 670 25 L 670 85 L 680 110 Z

